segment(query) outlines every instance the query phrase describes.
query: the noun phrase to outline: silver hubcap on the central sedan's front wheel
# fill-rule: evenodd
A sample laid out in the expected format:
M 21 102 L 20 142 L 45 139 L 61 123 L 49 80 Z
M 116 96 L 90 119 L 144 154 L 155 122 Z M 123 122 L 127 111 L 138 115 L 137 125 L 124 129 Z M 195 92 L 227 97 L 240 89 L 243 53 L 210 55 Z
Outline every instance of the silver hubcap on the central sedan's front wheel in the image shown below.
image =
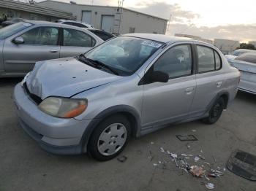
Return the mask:
M 109 125 L 99 136 L 98 151 L 100 154 L 110 156 L 116 154 L 127 140 L 127 129 L 121 123 Z

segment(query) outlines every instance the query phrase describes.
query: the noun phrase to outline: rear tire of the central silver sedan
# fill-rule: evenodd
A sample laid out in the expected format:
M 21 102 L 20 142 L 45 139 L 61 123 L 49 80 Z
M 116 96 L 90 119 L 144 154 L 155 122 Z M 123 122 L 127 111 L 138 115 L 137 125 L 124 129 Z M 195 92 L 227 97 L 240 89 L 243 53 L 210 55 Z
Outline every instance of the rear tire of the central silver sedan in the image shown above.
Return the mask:
M 202 122 L 210 125 L 217 122 L 217 120 L 219 120 L 219 117 L 222 115 L 224 107 L 225 107 L 224 99 L 218 98 L 217 101 L 215 101 L 214 105 L 211 106 L 209 116 L 204 118 Z

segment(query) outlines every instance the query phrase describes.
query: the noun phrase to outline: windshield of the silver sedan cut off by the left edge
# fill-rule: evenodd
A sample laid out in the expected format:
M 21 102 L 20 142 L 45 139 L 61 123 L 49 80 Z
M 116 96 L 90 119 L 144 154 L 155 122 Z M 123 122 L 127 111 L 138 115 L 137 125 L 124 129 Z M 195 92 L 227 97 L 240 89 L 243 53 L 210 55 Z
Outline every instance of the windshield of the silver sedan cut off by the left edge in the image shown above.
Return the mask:
M 7 26 L 0 29 L 0 39 L 5 39 L 9 36 L 12 36 L 12 34 L 18 33 L 19 31 L 22 31 L 25 28 L 28 28 L 29 26 L 32 26 L 31 23 L 15 23 L 11 26 Z

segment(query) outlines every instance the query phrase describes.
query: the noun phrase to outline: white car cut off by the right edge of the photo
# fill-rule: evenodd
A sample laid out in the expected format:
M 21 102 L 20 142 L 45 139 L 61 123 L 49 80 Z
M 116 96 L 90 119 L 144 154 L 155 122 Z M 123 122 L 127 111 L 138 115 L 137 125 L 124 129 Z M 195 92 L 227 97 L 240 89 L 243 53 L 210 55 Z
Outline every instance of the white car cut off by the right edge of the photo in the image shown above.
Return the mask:
M 256 51 L 244 53 L 228 61 L 241 72 L 238 89 L 256 94 Z

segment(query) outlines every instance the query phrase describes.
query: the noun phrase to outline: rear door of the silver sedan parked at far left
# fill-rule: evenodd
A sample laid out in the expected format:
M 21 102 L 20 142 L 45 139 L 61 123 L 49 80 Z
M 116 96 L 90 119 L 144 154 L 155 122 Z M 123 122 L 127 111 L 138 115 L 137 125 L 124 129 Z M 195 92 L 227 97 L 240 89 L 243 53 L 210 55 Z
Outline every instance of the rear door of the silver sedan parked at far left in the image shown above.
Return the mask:
M 60 57 L 71 57 L 83 54 L 91 50 L 96 44 L 96 39 L 85 31 L 72 28 L 62 28 L 61 54 Z

